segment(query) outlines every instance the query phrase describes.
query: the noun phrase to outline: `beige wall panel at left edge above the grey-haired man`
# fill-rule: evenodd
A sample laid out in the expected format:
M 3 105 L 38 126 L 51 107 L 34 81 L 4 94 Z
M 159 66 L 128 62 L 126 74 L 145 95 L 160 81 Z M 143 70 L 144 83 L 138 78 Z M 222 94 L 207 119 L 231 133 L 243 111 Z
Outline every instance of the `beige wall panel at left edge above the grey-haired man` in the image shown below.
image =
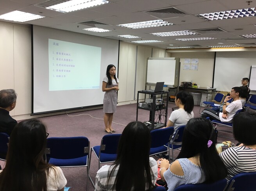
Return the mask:
M 13 89 L 13 25 L 0 23 L 0 42 L 0 89 Z

